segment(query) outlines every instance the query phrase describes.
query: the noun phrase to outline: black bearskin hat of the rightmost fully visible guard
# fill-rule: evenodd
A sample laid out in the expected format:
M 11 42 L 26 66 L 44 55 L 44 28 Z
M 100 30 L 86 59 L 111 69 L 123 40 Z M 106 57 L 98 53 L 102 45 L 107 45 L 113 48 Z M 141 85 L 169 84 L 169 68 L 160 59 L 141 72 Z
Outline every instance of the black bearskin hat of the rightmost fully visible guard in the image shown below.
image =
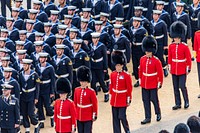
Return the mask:
M 186 32 L 187 31 L 187 26 L 181 22 L 181 21 L 175 21 L 171 26 L 170 26 L 170 37 L 171 38 L 181 38 L 185 39 L 186 37 Z

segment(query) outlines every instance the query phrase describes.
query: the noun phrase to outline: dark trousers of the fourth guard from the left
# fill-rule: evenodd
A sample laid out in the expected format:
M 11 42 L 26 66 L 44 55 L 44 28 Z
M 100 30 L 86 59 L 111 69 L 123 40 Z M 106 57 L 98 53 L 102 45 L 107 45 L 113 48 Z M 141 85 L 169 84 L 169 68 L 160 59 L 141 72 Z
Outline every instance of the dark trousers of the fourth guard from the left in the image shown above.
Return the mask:
M 142 101 L 144 104 L 145 118 L 151 118 L 151 101 L 154 105 L 155 114 L 160 114 L 160 105 L 158 100 L 158 89 L 142 88 Z

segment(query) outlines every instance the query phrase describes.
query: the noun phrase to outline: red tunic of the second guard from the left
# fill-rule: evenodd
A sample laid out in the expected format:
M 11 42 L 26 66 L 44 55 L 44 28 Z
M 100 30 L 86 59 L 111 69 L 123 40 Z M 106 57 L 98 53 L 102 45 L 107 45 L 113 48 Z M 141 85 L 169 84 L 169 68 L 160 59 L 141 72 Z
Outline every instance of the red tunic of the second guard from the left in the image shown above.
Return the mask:
M 98 103 L 96 93 L 91 88 L 76 88 L 74 92 L 74 103 L 77 110 L 77 120 L 90 121 L 97 116 Z

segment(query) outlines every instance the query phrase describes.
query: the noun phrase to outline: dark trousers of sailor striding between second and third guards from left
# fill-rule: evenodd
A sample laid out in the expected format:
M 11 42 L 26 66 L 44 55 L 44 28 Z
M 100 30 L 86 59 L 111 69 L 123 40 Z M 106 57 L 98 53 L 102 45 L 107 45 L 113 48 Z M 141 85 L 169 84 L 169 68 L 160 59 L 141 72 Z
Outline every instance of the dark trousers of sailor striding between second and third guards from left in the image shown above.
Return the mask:
M 91 87 L 96 91 L 97 94 L 97 89 L 96 89 L 96 83 L 99 82 L 101 88 L 103 89 L 104 93 L 108 92 L 108 88 L 104 82 L 104 71 L 101 69 L 91 69 L 92 71 L 92 83 Z

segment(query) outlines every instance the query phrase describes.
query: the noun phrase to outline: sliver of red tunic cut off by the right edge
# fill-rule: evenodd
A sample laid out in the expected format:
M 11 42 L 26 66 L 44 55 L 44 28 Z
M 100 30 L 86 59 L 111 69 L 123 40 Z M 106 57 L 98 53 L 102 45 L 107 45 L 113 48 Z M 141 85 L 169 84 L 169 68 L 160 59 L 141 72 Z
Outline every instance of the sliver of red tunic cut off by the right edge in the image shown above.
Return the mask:
M 194 51 L 196 52 L 196 61 L 200 62 L 200 31 L 195 32 L 194 35 Z

